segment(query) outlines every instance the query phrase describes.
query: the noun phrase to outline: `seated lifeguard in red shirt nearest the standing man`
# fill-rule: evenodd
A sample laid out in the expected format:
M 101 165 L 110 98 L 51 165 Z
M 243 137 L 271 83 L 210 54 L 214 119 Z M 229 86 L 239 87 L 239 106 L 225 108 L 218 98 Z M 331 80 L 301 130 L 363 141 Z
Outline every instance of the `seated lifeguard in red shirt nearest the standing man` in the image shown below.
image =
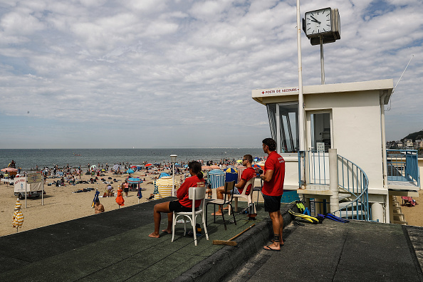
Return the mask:
M 244 191 L 246 182 L 248 182 L 249 179 L 256 176 L 256 170 L 252 167 L 252 162 L 253 162 L 253 156 L 251 155 L 245 155 L 242 158 L 242 165 L 244 165 L 246 169 L 244 170 L 244 172 L 242 172 L 241 180 L 239 180 L 239 183 L 235 184 L 235 187 L 234 187 L 235 195 L 241 194 Z M 249 185 L 249 187 L 246 187 L 246 192 L 245 192 L 246 195 L 250 194 L 252 186 L 253 185 Z M 225 192 L 225 187 L 217 187 L 216 188 L 217 199 L 223 199 L 224 192 Z M 232 193 L 231 190 L 226 191 L 226 194 L 231 194 L 231 193 Z M 224 209 L 229 209 L 229 208 L 226 207 Z M 214 215 L 214 213 L 211 213 L 211 215 Z M 216 215 L 221 215 L 220 206 L 219 206 L 219 210 L 216 212 Z

